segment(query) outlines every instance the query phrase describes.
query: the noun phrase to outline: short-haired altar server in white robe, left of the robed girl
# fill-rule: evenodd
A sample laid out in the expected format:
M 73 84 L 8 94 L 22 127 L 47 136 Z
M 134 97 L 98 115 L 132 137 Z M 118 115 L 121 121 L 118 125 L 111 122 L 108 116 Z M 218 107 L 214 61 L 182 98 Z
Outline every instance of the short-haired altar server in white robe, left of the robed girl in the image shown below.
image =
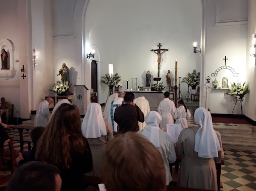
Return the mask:
M 164 92 L 164 100 L 160 102 L 158 107 L 158 113 L 162 116 L 160 128 L 163 129 L 164 132 L 167 132 L 167 124 L 174 123 L 173 116 L 176 111 L 175 104 L 169 99 L 169 97 L 170 93 L 168 91 Z

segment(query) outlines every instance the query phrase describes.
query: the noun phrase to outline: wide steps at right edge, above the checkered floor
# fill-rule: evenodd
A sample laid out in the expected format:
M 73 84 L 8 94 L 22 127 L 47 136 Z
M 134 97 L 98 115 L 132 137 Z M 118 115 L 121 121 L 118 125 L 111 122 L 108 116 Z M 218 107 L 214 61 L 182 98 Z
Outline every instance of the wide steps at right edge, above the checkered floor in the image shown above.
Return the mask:
M 256 151 L 256 132 L 248 125 L 237 124 L 237 126 L 215 126 L 219 131 L 224 149 L 237 149 Z

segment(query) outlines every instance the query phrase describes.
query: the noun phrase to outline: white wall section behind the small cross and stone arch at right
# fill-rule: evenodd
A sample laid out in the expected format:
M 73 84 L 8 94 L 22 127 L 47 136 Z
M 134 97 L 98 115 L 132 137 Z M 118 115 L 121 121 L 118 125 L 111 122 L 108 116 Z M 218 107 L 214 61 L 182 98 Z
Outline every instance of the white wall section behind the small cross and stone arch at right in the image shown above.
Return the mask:
M 220 82 L 218 87 L 222 85 L 222 78 L 227 77 L 228 83 L 242 83 L 246 80 L 246 38 L 247 38 L 247 1 L 211 1 L 206 0 L 206 69 L 205 76 L 202 76 L 202 93 L 205 97 L 206 80 L 208 75 L 211 81 L 215 78 Z M 220 70 L 218 75 L 211 76 L 225 62 L 223 58 L 227 56 L 227 66 L 232 67 L 238 77 L 234 77 L 228 69 Z M 213 86 L 212 86 L 213 88 Z M 225 95 L 223 90 L 208 90 L 206 108 L 211 109 L 211 113 L 230 114 L 234 102 L 233 97 Z M 247 97 L 247 95 L 246 95 Z M 245 97 L 245 102 L 247 98 Z M 202 106 L 205 107 L 205 103 Z M 246 108 L 244 108 L 246 110 Z M 233 114 L 240 114 L 240 110 L 236 108 Z

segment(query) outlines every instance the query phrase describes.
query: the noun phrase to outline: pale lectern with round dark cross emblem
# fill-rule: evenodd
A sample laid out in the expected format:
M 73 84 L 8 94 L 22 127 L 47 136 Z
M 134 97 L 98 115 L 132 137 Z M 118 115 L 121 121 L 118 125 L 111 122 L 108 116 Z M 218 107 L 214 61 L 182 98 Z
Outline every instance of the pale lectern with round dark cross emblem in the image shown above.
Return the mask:
M 74 85 L 74 98 L 72 104 L 76 105 L 80 114 L 85 114 L 87 111 L 87 91 L 89 90 L 85 85 Z

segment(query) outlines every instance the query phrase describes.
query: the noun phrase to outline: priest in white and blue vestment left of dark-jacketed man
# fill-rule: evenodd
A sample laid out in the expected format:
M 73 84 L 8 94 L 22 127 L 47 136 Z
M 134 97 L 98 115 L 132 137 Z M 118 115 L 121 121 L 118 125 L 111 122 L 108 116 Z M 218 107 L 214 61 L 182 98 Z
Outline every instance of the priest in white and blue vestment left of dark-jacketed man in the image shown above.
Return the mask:
M 112 131 L 116 131 L 116 132 L 118 131 L 117 123 L 114 121 L 114 114 L 115 114 L 116 108 L 124 104 L 124 95 L 125 95 L 124 91 L 119 92 L 118 98 L 116 98 L 110 105 L 108 123 L 110 124 Z

